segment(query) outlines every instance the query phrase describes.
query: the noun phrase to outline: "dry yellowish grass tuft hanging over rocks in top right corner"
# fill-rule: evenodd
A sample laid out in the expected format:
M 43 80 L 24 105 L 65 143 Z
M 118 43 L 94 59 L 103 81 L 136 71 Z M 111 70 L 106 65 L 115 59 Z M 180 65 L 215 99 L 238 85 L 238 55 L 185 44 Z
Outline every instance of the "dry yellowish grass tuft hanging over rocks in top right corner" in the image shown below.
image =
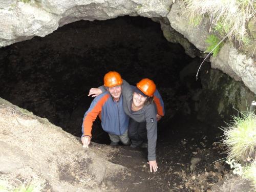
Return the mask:
M 217 28 L 230 40 L 243 41 L 246 26 L 255 20 L 254 0 L 184 0 L 185 12 L 189 20 L 209 16 L 211 27 Z

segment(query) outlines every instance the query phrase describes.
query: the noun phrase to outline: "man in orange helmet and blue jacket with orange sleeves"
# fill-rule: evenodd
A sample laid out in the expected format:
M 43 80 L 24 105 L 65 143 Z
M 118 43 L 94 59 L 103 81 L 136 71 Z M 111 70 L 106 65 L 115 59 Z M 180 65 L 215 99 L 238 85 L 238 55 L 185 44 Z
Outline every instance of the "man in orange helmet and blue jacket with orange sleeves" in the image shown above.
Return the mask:
M 109 133 L 111 145 L 117 145 L 119 141 L 124 145 L 130 144 L 127 134 L 129 116 L 123 110 L 122 83 L 123 81 L 119 73 L 110 71 L 105 74 L 104 87 L 106 87 L 107 92 L 95 97 L 89 110 L 83 117 L 83 147 L 88 148 L 91 142 L 92 125 L 98 115 L 101 120 L 102 129 Z

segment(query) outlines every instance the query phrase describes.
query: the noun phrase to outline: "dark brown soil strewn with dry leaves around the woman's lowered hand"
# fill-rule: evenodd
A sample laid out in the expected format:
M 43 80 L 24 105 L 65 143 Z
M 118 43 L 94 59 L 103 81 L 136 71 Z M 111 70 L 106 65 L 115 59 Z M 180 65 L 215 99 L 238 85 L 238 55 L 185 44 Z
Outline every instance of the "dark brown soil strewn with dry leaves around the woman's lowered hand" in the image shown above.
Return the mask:
M 156 173 L 150 173 L 146 148 L 117 147 L 111 161 L 127 167 L 125 177 L 112 180 L 120 191 L 211 191 L 229 172 L 221 163 L 218 130 L 195 117 L 174 119 L 159 123 Z M 192 170 L 191 159 L 197 160 Z

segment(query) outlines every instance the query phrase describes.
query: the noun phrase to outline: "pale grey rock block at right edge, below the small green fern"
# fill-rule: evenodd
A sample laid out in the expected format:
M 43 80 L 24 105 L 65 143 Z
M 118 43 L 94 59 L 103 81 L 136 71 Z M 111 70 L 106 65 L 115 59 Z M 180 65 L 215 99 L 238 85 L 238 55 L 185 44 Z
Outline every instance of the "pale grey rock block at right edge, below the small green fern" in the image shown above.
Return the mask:
M 211 67 L 221 69 L 235 80 L 242 80 L 252 92 L 256 93 L 256 65 L 252 58 L 239 53 L 225 44 L 217 57 L 211 57 Z

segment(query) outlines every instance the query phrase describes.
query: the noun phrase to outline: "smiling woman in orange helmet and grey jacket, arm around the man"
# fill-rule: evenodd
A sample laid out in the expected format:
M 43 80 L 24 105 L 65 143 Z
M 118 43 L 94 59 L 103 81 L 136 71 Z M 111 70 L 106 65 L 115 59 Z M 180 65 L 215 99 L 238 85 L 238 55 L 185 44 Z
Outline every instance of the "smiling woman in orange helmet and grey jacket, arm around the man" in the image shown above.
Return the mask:
M 99 90 L 100 89 L 100 90 Z M 105 88 L 101 86 L 99 89 L 92 88 L 89 95 L 98 95 L 105 92 Z M 150 171 L 157 171 L 156 162 L 156 141 L 157 141 L 157 115 L 156 105 L 153 102 L 153 96 L 156 91 L 155 83 L 150 79 L 142 79 L 137 83 L 136 87 L 130 86 L 123 80 L 122 96 L 124 112 L 131 117 L 128 134 L 132 141 L 132 147 L 139 146 L 143 141 L 147 140 L 148 150 L 148 164 L 150 164 Z M 158 93 L 158 92 L 157 92 Z M 160 96 L 160 94 L 158 93 Z M 164 114 L 163 102 L 161 101 L 161 115 Z M 159 107 L 158 107 L 159 108 Z M 158 110 L 159 111 L 159 110 Z M 158 116 L 158 117 L 157 117 Z

